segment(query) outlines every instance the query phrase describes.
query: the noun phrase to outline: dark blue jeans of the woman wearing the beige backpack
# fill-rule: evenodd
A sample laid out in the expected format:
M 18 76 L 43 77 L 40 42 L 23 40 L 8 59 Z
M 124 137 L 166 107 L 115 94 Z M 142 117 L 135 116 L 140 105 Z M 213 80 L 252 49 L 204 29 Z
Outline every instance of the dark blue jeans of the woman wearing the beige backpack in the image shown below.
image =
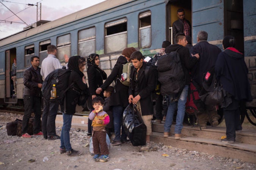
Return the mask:
M 124 132 L 124 128 L 122 128 L 122 136 L 121 136 L 121 125 L 123 121 L 123 113 L 124 109 L 122 106 L 113 106 L 113 123 L 114 123 L 114 131 L 115 131 L 115 141 L 126 140 L 126 134 Z

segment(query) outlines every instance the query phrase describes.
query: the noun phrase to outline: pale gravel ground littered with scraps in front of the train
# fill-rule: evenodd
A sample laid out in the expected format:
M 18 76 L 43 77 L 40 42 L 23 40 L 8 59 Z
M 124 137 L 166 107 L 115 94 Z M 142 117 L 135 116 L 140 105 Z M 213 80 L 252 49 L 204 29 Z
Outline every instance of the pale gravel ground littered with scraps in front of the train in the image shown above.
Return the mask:
M 8 136 L 6 123 L 22 116 L 0 112 L 0 169 L 19 170 L 213 170 L 213 169 L 256 169 L 256 164 L 239 159 L 188 151 L 152 142 L 149 151 L 140 152 L 140 147 L 133 147 L 129 142 L 110 148 L 108 162 L 95 162 L 89 153 L 87 132 L 71 129 L 71 145 L 75 150 L 82 150 L 81 156 L 69 157 L 59 153 L 60 140 L 47 141 L 42 136 L 20 138 Z M 61 127 L 57 127 L 60 135 Z M 164 157 L 166 154 L 168 157 Z M 48 161 L 43 161 L 47 157 Z M 34 159 L 35 162 L 30 162 Z

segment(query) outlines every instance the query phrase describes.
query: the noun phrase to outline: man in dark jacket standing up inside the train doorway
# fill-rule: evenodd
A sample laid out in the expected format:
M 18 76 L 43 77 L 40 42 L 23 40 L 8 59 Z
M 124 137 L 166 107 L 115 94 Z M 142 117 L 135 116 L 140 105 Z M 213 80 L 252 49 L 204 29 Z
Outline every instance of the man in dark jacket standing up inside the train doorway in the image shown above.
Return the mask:
M 178 33 L 184 33 L 185 36 L 192 36 L 191 35 L 191 24 L 188 20 L 185 19 L 185 11 L 184 9 L 180 8 L 177 10 L 178 20 L 174 21 L 173 23 L 173 44 L 176 42 L 176 36 Z

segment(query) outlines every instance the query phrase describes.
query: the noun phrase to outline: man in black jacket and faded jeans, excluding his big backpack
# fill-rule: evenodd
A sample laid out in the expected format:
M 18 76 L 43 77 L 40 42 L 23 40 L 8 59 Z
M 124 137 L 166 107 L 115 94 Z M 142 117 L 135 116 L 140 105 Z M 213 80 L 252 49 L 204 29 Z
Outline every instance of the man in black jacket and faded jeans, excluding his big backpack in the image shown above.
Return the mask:
M 166 115 L 166 120 L 164 124 L 164 137 L 168 137 L 170 135 L 170 128 L 173 122 L 173 115 L 174 112 L 177 110 L 177 117 L 176 117 L 176 125 L 174 130 L 175 139 L 182 138 L 184 135 L 181 133 L 183 127 L 183 119 L 185 116 L 185 104 L 187 102 L 187 94 L 188 94 L 188 85 L 190 84 L 190 69 L 198 61 L 198 54 L 193 57 L 190 57 L 190 53 L 188 48 L 185 46 L 187 45 L 187 39 L 184 33 L 179 33 L 176 36 L 176 44 L 170 45 L 165 48 L 165 53 L 170 53 L 171 51 L 176 51 L 179 53 L 179 57 L 181 60 L 181 65 L 185 74 L 185 87 L 181 91 L 181 95 L 178 101 L 169 101 L 168 111 Z M 169 97 L 170 98 L 170 97 Z

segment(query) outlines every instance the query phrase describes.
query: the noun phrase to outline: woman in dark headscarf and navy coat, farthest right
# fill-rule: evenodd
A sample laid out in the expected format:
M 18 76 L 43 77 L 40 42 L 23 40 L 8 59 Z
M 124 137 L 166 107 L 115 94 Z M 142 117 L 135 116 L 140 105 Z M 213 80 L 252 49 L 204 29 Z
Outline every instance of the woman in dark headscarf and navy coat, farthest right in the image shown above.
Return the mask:
M 243 54 L 235 47 L 236 40 L 233 36 L 223 39 L 224 51 L 218 55 L 215 63 L 217 79 L 223 85 L 224 102 L 223 108 L 226 123 L 226 138 L 222 142 L 234 143 L 236 131 L 242 130 L 240 122 L 240 107 L 246 101 L 251 101 L 251 90 L 248 80 L 248 68 Z

